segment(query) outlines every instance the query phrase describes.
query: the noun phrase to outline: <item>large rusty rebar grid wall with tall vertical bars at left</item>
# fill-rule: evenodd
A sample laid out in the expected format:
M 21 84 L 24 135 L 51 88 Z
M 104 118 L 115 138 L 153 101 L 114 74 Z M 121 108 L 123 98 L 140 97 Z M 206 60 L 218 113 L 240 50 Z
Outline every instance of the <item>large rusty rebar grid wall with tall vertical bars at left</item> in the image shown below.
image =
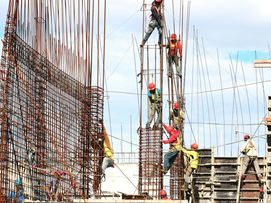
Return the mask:
M 91 85 L 96 73 L 90 54 L 83 57 L 89 37 L 82 45 L 86 39 L 74 32 L 81 42 L 72 45 L 70 36 L 60 35 L 64 20 L 59 21 L 59 14 L 52 23 L 51 15 L 60 11 L 45 4 L 10 0 L 8 8 L 0 68 L 1 202 L 8 200 L 18 179 L 33 200 L 46 200 L 54 179 L 59 193 L 55 201 L 89 198 L 92 188 L 100 198 L 103 149 L 96 140 L 102 132 L 103 88 Z M 78 24 L 89 25 L 89 19 Z M 37 155 L 34 167 L 27 162 L 30 148 Z

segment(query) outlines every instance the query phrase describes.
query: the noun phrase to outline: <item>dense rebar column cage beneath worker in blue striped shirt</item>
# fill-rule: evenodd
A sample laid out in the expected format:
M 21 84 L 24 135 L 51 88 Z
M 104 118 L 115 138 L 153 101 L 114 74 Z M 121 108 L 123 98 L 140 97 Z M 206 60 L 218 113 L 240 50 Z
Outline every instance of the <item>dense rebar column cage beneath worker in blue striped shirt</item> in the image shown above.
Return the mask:
M 162 181 L 162 143 L 157 142 L 162 128 L 146 130 L 142 128 L 139 135 L 139 191 L 148 192 L 154 199 L 159 199 Z

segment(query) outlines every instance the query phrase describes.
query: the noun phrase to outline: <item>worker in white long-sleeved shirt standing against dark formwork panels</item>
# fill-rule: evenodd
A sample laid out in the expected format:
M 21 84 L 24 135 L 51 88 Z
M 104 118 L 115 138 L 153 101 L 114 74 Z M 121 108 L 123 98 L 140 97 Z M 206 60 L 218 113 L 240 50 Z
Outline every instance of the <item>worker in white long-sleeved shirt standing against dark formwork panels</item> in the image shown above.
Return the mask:
M 245 171 L 251 162 L 253 162 L 255 171 L 257 173 L 257 176 L 259 180 L 263 179 L 263 176 L 260 171 L 260 166 L 259 166 L 259 161 L 257 157 L 257 151 L 256 151 L 256 144 L 255 142 L 250 139 L 249 135 L 244 136 L 245 143 L 242 145 L 240 148 L 240 152 L 245 155 L 243 159 L 243 170 L 242 170 L 242 175 L 245 174 Z

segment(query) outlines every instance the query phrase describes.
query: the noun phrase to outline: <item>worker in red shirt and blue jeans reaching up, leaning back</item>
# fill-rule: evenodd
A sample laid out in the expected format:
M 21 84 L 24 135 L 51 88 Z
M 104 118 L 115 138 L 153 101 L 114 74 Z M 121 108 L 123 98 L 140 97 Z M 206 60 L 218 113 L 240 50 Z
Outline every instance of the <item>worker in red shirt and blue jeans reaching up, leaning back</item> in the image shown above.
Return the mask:
M 168 140 L 158 140 L 164 144 L 170 144 L 170 150 L 164 155 L 164 169 L 161 170 L 166 174 L 180 152 L 181 140 L 179 138 L 179 131 L 173 130 L 172 126 L 166 126 L 164 123 L 163 126 L 167 133 L 170 134 L 170 138 Z

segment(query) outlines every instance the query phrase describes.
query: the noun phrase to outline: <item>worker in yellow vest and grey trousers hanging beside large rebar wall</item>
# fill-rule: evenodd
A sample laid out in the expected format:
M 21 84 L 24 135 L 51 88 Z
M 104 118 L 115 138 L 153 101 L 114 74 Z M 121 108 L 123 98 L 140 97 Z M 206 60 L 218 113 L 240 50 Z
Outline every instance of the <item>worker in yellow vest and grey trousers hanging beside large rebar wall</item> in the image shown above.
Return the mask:
M 103 181 L 105 181 L 105 169 L 112 167 L 114 168 L 114 150 L 113 148 L 110 146 L 110 140 L 109 137 L 107 135 L 107 132 L 105 130 L 105 127 L 103 126 L 103 134 L 104 134 L 104 159 L 103 159 L 103 163 L 102 163 L 102 179 L 104 178 Z

